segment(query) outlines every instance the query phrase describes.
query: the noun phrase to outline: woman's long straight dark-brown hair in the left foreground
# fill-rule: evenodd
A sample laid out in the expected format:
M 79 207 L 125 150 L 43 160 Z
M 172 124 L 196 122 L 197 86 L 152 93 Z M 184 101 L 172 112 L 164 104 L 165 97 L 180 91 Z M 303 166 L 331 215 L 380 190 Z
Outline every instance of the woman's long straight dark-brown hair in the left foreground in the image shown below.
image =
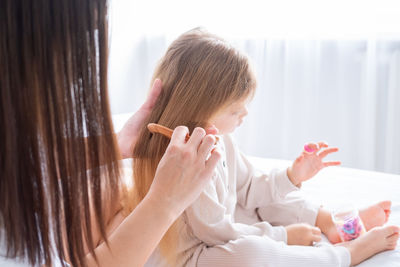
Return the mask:
M 94 249 L 90 206 L 105 236 L 101 188 L 117 192 L 119 176 L 107 30 L 106 0 L 0 1 L 0 227 L 7 257 L 86 265 L 84 246 Z

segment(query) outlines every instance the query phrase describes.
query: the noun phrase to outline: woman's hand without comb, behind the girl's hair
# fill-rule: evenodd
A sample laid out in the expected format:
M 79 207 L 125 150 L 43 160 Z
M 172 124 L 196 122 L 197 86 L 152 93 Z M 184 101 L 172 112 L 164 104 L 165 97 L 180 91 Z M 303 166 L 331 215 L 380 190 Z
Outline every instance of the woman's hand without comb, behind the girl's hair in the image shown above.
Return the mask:
M 118 146 L 123 159 L 132 157 L 132 151 L 136 144 L 140 127 L 153 109 L 161 90 L 161 80 L 155 79 L 146 101 L 139 110 L 129 118 L 122 130 L 117 134 Z

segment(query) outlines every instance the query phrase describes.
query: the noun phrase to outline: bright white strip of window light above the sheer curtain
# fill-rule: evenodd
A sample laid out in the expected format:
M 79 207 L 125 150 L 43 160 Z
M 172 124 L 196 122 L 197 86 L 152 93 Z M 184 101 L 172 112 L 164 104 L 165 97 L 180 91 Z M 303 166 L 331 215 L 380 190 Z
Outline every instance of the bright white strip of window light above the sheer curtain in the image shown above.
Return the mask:
M 176 36 L 203 26 L 225 37 L 399 38 L 398 0 L 112 0 L 114 25 Z M 133 37 L 133 36 L 132 36 Z

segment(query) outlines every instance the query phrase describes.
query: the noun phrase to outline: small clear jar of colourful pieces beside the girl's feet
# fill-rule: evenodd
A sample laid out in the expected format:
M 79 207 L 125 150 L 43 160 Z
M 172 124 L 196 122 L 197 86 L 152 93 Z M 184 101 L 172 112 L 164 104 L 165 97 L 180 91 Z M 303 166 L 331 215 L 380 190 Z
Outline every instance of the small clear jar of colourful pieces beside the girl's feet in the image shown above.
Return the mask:
M 333 220 L 342 241 L 356 239 L 366 232 L 357 210 L 336 213 Z

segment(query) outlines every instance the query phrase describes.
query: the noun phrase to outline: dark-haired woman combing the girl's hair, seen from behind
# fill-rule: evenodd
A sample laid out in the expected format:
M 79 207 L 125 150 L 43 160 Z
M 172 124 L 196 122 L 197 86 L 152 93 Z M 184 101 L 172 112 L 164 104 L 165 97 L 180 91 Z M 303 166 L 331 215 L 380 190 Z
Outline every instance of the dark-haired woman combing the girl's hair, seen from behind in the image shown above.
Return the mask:
M 101 242 L 119 207 L 117 161 L 161 83 L 116 138 L 106 0 L 5 0 L 0 20 L 0 265 L 142 265 L 210 179 L 220 155 L 197 151 L 214 137 L 197 129 L 186 143 L 177 127 L 149 193 Z

